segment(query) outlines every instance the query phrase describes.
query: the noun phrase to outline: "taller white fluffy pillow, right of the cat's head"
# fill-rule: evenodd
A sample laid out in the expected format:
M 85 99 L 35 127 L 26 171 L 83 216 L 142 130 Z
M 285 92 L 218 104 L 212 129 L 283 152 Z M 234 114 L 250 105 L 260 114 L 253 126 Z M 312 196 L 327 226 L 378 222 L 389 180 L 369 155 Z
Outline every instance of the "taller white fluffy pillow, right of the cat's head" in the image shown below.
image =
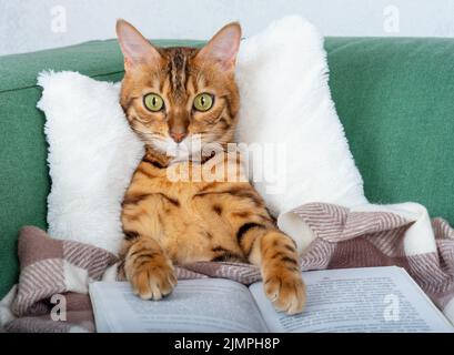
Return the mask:
M 272 152 L 284 148 L 279 163 L 265 155 L 262 168 L 273 179 L 254 183 L 274 215 L 307 202 L 366 203 L 327 72 L 323 37 L 297 16 L 241 44 L 238 140 L 270 144 Z

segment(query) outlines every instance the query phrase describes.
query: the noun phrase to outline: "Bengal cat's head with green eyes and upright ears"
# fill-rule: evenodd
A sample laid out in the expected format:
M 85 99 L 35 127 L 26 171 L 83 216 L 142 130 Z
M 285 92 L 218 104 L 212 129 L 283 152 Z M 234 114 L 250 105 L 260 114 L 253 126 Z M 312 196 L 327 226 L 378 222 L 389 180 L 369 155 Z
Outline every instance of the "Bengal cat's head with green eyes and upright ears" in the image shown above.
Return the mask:
M 179 156 L 231 142 L 239 110 L 238 23 L 225 26 L 201 50 L 154 48 L 122 20 L 117 33 L 125 69 L 120 102 L 145 144 Z

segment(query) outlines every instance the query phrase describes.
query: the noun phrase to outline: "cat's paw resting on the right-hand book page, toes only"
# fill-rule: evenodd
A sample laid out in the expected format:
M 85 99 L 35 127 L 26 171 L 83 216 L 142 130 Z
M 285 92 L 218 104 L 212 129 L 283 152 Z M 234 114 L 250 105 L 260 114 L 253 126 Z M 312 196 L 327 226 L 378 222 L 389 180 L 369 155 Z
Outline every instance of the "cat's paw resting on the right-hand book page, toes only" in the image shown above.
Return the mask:
M 264 291 L 278 311 L 287 314 L 303 312 L 305 285 L 300 272 L 278 268 L 264 277 Z

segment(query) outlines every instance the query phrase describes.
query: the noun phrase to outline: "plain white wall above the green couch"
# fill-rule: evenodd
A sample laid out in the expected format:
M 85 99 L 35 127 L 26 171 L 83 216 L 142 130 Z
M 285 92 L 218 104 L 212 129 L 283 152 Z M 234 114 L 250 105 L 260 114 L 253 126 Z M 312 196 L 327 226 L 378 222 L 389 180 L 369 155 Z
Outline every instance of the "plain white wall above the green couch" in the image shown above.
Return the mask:
M 149 38 L 206 39 L 228 21 L 250 36 L 289 13 L 326 36 L 454 37 L 453 0 L 0 0 L 0 55 L 113 38 L 117 18 Z

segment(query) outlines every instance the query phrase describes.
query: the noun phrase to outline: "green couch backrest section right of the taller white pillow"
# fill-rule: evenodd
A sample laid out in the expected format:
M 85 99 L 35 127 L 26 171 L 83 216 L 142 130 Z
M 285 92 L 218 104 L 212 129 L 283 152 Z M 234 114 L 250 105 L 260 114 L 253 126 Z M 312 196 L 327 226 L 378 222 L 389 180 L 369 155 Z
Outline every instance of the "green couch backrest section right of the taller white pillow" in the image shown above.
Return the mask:
M 326 49 L 366 196 L 454 224 L 454 39 L 332 38 Z

